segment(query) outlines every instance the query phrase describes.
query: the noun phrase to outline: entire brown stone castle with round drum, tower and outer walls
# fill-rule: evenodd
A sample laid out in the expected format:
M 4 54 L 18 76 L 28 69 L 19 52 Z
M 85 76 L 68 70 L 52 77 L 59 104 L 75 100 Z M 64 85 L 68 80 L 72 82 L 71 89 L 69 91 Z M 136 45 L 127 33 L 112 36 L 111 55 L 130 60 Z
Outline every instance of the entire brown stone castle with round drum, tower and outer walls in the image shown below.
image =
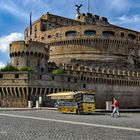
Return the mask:
M 75 6 L 75 19 L 48 12 L 10 44 L 10 64 L 32 71 L 0 72 L 1 107 L 52 106 L 49 93 L 95 90 L 96 108 L 113 97 L 120 108 L 140 108 L 140 33 Z

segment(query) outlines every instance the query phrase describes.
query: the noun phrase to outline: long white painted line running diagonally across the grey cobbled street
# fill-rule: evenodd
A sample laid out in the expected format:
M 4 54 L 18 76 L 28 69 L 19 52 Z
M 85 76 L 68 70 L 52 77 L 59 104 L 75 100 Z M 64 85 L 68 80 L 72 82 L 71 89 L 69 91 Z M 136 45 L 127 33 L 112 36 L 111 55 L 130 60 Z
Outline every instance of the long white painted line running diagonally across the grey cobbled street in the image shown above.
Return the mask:
M 48 119 L 48 118 L 40 118 L 40 117 L 12 115 L 12 114 L 5 114 L 5 113 L 0 113 L 0 116 L 25 118 L 25 119 L 34 119 L 34 120 L 43 120 L 43 121 L 51 121 L 51 122 L 59 122 L 59 123 L 69 123 L 69 124 L 78 124 L 78 125 L 85 125 L 85 126 L 93 126 L 93 127 L 102 127 L 102 128 L 110 128 L 110 129 L 129 130 L 129 131 L 138 131 L 138 132 L 140 132 L 140 129 L 138 129 L 138 128 L 132 128 L 132 127 L 113 126 L 113 125 L 102 125 L 102 124 L 94 124 L 94 123 L 83 123 L 83 122 L 56 120 L 56 119 Z

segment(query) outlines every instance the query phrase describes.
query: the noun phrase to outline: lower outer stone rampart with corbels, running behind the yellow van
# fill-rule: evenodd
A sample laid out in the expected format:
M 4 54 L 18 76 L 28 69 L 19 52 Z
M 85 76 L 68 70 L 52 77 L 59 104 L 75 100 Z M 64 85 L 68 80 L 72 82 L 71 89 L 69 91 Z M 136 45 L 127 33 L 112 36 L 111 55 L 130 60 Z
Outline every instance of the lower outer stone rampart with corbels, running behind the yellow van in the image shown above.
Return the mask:
M 39 96 L 43 98 L 43 103 L 49 104 L 45 100 L 49 93 L 81 89 L 96 91 L 96 108 L 105 108 L 105 102 L 111 101 L 114 96 L 119 99 L 121 108 L 138 108 L 140 105 L 139 72 L 66 64 L 63 69 L 66 73 L 62 75 L 1 72 L 1 105 L 26 107 L 27 100 L 32 97 L 38 100 Z M 130 97 L 131 104 L 126 100 Z

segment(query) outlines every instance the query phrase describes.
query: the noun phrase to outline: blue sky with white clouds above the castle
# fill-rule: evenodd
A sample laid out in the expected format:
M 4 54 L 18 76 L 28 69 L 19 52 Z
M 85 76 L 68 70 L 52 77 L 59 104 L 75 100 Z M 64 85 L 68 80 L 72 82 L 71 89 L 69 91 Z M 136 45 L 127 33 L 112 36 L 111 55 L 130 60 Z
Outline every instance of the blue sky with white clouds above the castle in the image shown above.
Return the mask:
M 140 31 L 140 0 L 89 0 L 90 12 L 108 18 L 109 22 Z M 0 67 L 9 62 L 9 43 L 23 39 L 24 29 L 42 14 L 75 17 L 75 4 L 83 4 L 88 11 L 88 0 L 0 0 Z

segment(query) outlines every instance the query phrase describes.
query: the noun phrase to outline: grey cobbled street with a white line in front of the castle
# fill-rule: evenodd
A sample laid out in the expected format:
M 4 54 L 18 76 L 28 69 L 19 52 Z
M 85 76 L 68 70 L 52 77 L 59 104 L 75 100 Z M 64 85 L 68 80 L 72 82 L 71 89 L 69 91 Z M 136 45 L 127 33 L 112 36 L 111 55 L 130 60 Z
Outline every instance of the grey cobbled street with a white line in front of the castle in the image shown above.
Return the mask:
M 0 111 L 0 140 L 139 140 L 140 113 L 61 114 L 54 110 Z

